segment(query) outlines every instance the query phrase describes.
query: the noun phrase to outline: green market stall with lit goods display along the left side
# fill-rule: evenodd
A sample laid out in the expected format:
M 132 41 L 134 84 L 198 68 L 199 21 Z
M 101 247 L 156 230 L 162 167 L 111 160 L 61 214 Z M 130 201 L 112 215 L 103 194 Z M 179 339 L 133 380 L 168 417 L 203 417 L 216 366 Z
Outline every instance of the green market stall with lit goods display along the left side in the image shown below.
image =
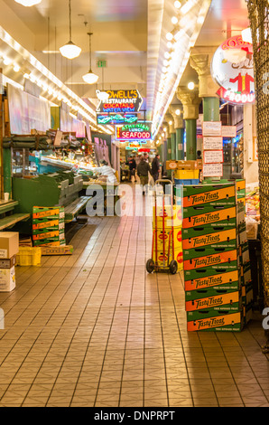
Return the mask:
M 12 224 L 24 234 L 31 234 L 31 221 L 17 222 L 29 219 L 35 205 L 64 206 L 68 223 L 85 210 L 90 199 L 86 194 L 88 184 L 102 185 L 105 206 L 107 195 L 111 195 L 107 178 L 97 171 L 93 146 L 74 136 L 53 146 L 51 131 L 40 137 L 5 137 L 5 192 L 16 202 Z M 115 196 L 115 203 L 117 199 Z

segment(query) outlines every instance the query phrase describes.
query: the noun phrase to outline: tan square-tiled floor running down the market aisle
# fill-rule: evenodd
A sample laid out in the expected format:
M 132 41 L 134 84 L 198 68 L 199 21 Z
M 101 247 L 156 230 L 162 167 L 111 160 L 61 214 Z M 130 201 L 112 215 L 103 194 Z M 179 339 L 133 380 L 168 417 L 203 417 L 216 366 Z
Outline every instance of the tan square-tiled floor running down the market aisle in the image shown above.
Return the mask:
M 0 406 L 268 407 L 261 320 L 187 333 L 181 273 L 145 272 L 151 220 L 90 222 L 0 294 Z

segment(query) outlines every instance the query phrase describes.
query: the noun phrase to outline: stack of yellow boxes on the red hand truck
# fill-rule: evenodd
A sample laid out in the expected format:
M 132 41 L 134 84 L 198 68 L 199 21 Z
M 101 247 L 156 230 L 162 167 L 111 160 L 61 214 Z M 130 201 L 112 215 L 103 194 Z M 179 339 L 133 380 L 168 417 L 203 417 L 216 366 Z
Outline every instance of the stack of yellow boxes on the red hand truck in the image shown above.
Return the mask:
M 153 260 L 167 264 L 176 260 L 179 269 L 182 269 L 182 217 L 180 205 L 153 206 Z M 164 229 L 164 231 L 163 231 Z M 173 231 L 172 231 L 173 229 Z M 173 234 L 173 237 L 172 237 Z M 164 242 L 164 243 L 163 243 Z M 163 250 L 164 246 L 164 250 Z M 172 259 L 172 246 L 174 259 Z

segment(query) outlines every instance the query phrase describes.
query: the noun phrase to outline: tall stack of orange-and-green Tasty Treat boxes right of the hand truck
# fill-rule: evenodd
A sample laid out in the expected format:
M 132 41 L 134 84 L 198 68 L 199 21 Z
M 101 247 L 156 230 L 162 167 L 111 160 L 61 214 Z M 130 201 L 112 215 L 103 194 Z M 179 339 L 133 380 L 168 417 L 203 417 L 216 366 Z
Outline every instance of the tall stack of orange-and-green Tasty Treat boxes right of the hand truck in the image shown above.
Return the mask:
M 241 331 L 251 318 L 244 184 L 183 186 L 188 331 Z

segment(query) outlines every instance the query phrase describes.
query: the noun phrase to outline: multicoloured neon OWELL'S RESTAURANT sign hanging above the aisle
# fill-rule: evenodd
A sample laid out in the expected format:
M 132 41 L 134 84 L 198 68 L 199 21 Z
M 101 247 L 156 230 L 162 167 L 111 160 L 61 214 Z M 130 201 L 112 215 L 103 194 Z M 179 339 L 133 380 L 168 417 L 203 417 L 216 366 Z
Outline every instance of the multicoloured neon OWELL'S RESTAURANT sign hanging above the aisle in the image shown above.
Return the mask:
M 107 90 L 102 92 L 102 95 L 98 97 L 97 113 L 138 112 L 143 104 L 143 98 L 138 90 Z

